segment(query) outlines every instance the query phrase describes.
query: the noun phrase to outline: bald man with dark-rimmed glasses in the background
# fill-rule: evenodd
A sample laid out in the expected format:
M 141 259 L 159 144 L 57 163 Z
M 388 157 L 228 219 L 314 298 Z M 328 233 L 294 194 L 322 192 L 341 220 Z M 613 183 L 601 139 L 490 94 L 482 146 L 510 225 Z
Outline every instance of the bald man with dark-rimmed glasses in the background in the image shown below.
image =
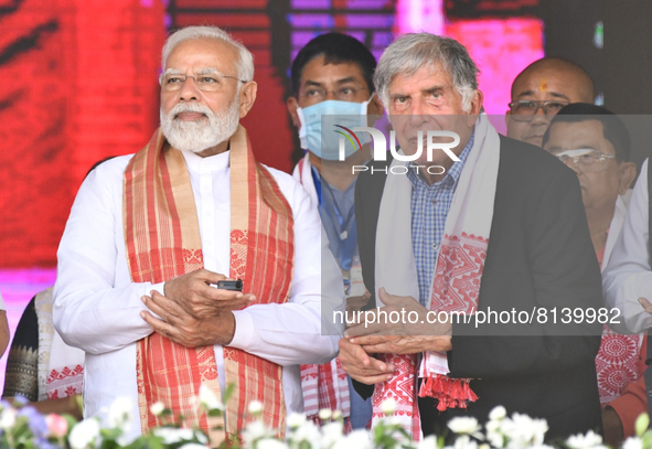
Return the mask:
M 551 119 L 570 103 L 594 103 L 594 82 L 579 65 L 558 57 L 530 64 L 512 84 L 507 137 L 541 147 Z

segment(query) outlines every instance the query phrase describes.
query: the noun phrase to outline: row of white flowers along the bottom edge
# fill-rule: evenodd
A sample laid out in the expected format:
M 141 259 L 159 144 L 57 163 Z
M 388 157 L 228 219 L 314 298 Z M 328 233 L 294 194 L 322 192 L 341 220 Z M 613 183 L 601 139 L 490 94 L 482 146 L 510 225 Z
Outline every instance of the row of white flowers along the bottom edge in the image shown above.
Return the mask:
M 225 400 L 229 396 L 225 392 Z M 209 388 L 200 389 L 197 404 L 211 416 L 221 416 L 225 407 Z M 201 430 L 182 428 L 181 417 L 161 403 L 151 406 L 152 414 L 165 423 L 148 435 L 137 439 L 126 437 L 126 429 L 133 421 L 132 404 L 129 399 L 117 399 L 107 410 L 106 419 L 87 418 L 79 423 L 71 416 L 42 416 L 24 399 L 0 403 L 0 448 L 9 449 L 206 449 L 209 439 Z M 279 440 L 274 429 L 263 425 L 263 405 L 249 404 L 250 423 L 233 440 L 234 449 L 555 449 L 546 445 L 548 430 L 545 419 L 534 419 L 514 413 L 507 416 L 504 407 L 495 407 L 489 420 L 481 426 L 473 417 L 457 417 L 448 423 L 455 435 L 452 446 L 443 437 L 429 436 L 413 441 L 409 434 L 393 419 L 396 403 L 383 404 L 386 417 L 373 431 L 354 430 L 344 434 L 344 420 L 339 410 L 321 410 L 322 426 L 301 414 L 287 417 L 287 438 Z M 650 419 L 643 414 L 637 420 L 637 436 L 628 438 L 622 449 L 652 449 Z M 224 445 L 223 445 L 224 446 Z M 574 435 L 558 449 L 607 449 L 602 437 L 589 430 L 586 435 Z

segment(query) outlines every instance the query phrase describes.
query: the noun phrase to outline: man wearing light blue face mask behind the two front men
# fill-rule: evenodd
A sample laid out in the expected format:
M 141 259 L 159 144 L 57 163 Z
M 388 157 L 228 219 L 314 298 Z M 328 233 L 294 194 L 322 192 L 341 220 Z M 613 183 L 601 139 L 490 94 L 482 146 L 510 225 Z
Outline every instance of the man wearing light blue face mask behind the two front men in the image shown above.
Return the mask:
M 345 160 L 340 160 L 336 132 L 322 142 L 322 116 L 338 116 L 338 125 L 352 129 L 367 126 L 368 115 L 382 115 L 383 106 L 372 82 L 376 60 L 357 40 L 340 33 L 322 34 L 297 54 L 291 68 L 293 96 L 287 105 L 299 130 L 306 157 L 295 168 L 293 177 L 319 204 L 330 249 L 342 269 L 348 309 L 360 310 L 368 292 L 362 282 L 353 195 L 356 174 L 352 165 L 363 165 L 370 158 L 370 141 L 361 148 L 346 143 Z M 364 135 L 364 136 L 363 136 Z M 359 138 L 366 138 L 365 132 Z M 342 410 L 353 428 L 366 426 L 371 400 L 363 400 L 350 387 L 346 374 L 335 359 L 325 365 L 302 365 L 304 413 L 317 419 L 322 408 Z

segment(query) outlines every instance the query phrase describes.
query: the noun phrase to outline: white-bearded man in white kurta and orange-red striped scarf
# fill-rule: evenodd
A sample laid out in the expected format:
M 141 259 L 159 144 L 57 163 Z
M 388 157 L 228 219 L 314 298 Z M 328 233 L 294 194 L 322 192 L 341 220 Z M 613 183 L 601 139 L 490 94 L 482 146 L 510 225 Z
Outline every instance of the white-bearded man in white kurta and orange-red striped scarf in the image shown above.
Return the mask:
M 137 437 L 162 424 L 150 410 L 162 402 L 217 446 L 259 400 L 282 435 L 303 407 L 299 364 L 336 355 L 343 329 L 321 311 L 344 309 L 341 275 L 308 194 L 256 162 L 239 125 L 256 98 L 252 54 L 192 26 L 168 39 L 162 67 L 161 129 L 79 189 L 54 323 L 86 351 L 86 417 L 129 397 Z M 235 279 L 242 291 L 221 288 Z M 229 386 L 224 418 L 197 411 L 200 388 Z

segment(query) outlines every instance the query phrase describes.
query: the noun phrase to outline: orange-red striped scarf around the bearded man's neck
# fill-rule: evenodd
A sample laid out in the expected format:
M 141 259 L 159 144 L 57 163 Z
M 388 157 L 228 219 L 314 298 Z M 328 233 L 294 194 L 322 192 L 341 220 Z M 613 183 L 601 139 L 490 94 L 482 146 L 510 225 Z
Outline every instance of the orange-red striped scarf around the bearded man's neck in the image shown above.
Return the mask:
M 245 128 L 229 141 L 231 269 L 254 303 L 288 300 L 293 271 L 292 211 L 269 171 L 256 162 Z M 181 151 L 160 130 L 129 162 L 124 177 L 124 226 L 133 282 L 158 284 L 203 267 L 202 242 L 190 174 Z M 199 427 L 218 446 L 245 424 L 248 404 L 263 403 L 263 421 L 285 432 L 282 367 L 234 348 L 224 348 L 225 384 L 235 384 L 222 417 L 197 411 L 200 385 L 217 397 L 213 346 L 184 348 L 152 333 L 137 344 L 137 382 L 143 431 L 161 426 L 150 405 L 161 400 L 184 425 Z M 226 435 L 225 435 L 225 431 Z

